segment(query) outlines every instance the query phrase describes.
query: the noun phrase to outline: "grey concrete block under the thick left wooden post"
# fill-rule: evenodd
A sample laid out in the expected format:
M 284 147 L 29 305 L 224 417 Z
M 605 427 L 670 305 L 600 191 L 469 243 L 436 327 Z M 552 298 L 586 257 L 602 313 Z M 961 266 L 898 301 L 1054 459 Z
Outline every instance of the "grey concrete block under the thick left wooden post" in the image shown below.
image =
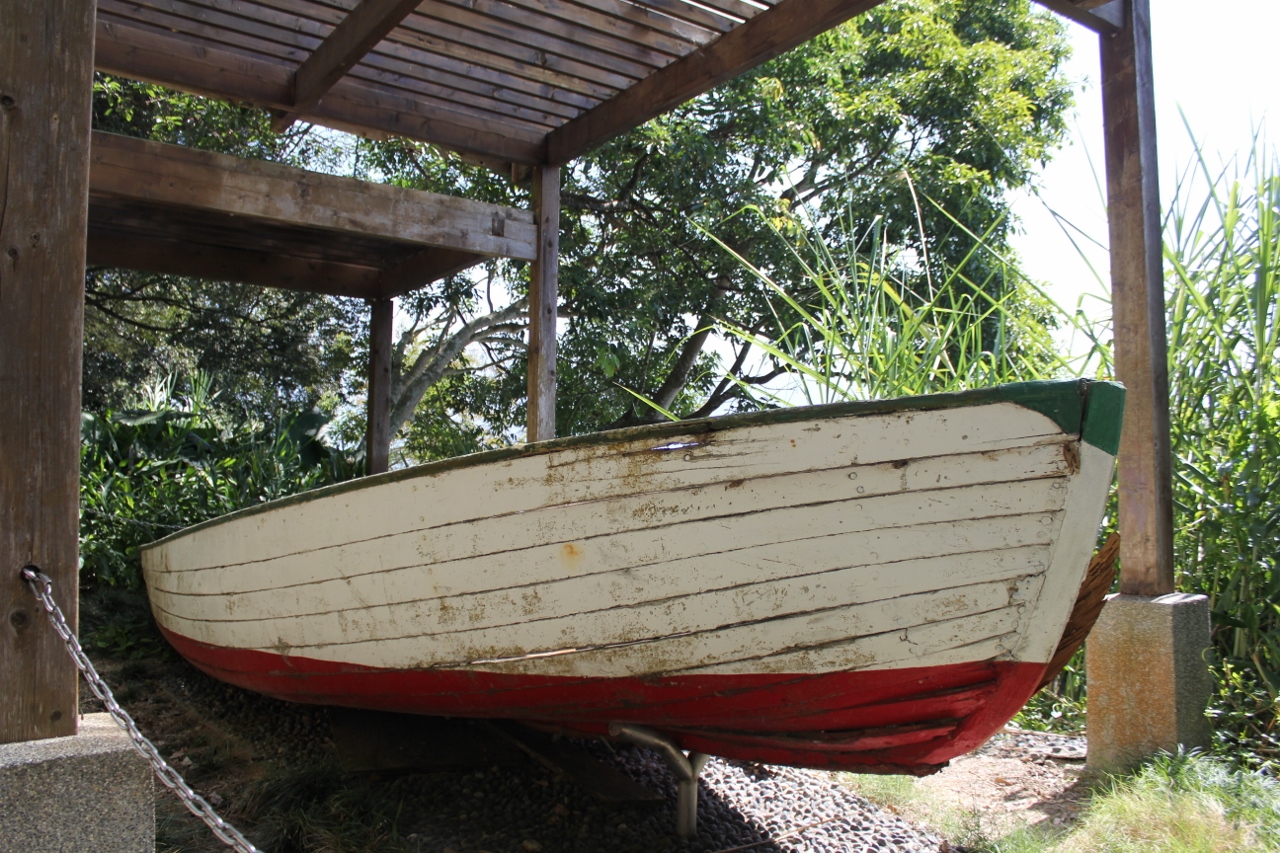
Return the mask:
M 0 744 L 0 850 L 154 853 L 151 767 L 106 713 L 78 734 Z

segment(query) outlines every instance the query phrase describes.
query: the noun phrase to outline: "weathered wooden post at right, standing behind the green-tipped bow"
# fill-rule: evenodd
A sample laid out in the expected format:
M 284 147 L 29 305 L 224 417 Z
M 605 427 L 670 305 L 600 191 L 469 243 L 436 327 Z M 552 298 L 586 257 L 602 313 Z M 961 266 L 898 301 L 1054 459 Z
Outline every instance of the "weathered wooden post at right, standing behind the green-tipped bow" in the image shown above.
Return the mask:
M 1116 378 L 1129 389 L 1120 590 L 1162 596 L 1174 592 L 1174 516 L 1149 0 L 1125 0 L 1124 12 L 1124 27 L 1101 38 Z

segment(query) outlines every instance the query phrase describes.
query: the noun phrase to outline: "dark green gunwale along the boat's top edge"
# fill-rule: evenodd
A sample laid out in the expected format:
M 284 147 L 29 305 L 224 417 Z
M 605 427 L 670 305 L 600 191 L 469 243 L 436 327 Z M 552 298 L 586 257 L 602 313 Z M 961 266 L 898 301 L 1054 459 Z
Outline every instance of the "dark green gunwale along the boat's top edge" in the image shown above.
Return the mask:
M 307 503 L 310 501 L 332 497 L 335 494 L 343 494 L 347 492 L 356 492 L 365 488 L 372 488 L 375 485 L 399 483 L 402 480 L 411 480 L 422 476 L 434 476 L 436 474 L 486 465 L 490 462 L 502 462 L 507 460 L 526 459 L 531 456 L 544 456 L 562 450 L 623 444 L 645 439 L 657 441 L 663 438 L 681 438 L 689 435 L 710 435 L 714 433 L 726 432 L 730 429 L 740 429 L 744 426 L 762 426 L 771 424 L 788 424 L 788 423 L 813 421 L 813 420 L 832 420 L 836 418 L 847 418 L 851 415 L 869 416 L 869 415 L 888 415 L 888 414 L 908 412 L 908 411 L 938 411 L 947 409 L 965 409 L 972 406 L 1011 402 L 1044 415 L 1050 420 L 1055 421 L 1059 425 L 1059 428 L 1062 429 L 1064 434 L 1068 435 L 1083 434 L 1085 441 L 1088 441 L 1092 438 L 1091 433 L 1100 432 L 1105 437 L 1110 438 L 1110 433 L 1112 430 L 1107 429 L 1106 426 L 1110 425 L 1110 421 L 1117 420 L 1116 414 L 1119 414 L 1119 412 L 1112 414 L 1114 407 L 1111 405 L 1101 406 L 1101 409 L 1106 410 L 1105 412 L 1102 412 L 1103 415 L 1102 418 L 1087 418 L 1087 414 L 1089 414 L 1087 412 L 1087 401 L 1091 396 L 1091 391 L 1098 387 L 1107 387 L 1108 391 L 1112 392 L 1112 394 L 1119 393 L 1120 396 L 1119 398 L 1123 405 L 1124 388 L 1119 383 L 1093 380 L 1093 379 L 1042 379 L 1034 382 L 1019 382 L 1004 386 L 995 386 L 991 388 L 975 388 L 970 391 L 955 391 L 955 392 L 945 392 L 936 394 L 896 397 L 892 400 L 858 400 L 858 401 L 846 401 L 836 403 L 824 403 L 819 406 L 796 406 L 790 409 L 771 409 L 765 411 L 699 418 L 696 420 L 677 420 L 677 421 L 667 421 L 659 424 L 641 424 L 637 426 L 625 426 L 622 429 L 604 430 L 598 433 L 584 433 L 581 435 L 568 435 L 564 438 L 552 438 L 543 442 L 515 444 L 512 447 L 502 447 L 492 451 L 481 451 L 479 453 L 468 453 L 466 456 L 453 456 L 444 460 L 435 460 L 431 462 L 426 462 L 424 465 L 415 465 L 411 467 L 398 469 L 394 471 L 385 471 L 383 474 L 362 476 L 355 480 L 348 480 L 346 483 L 334 483 L 332 485 L 324 485 L 316 489 L 311 489 L 308 492 L 301 492 L 298 494 L 278 498 L 275 501 L 268 501 L 264 503 L 259 503 L 256 506 L 243 507 L 214 519 L 200 521 L 188 528 L 183 528 L 182 530 L 170 533 L 169 535 L 161 539 L 141 546 L 138 548 L 138 553 L 142 555 L 154 548 L 160 548 L 163 546 L 169 544 L 170 542 L 175 542 L 186 535 L 191 535 L 201 530 L 206 530 L 209 528 L 225 524 L 233 520 L 259 515 L 261 512 L 279 510 L 287 506 Z M 1110 403 L 1111 401 L 1106 402 Z M 1088 426 L 1094 426 L 1096 420 L 1107 423 L 1098 424 L 1098 426 L 1102 426 L 1101 430 L 1091 430 L 1085 428 L 1085 420 L 1088 420 Z M 1117 424 L 1114 432 L 1116 433 L 1116 435 L 1119 435 Z M 1091 442 L 1091 443 L 1098 443 L 1098 442 Z M 653 448 L 653 451 L 658 450 L 659 448 Z M 671 450 L 682 450 L 682 447 Z M 1108 448 L 1102 447 L 1102 450 L 1108 450 Z M 1114 450 L 1110 450 L 1108 452 L 1111 452 L 1111 455 L 1115 455 Z

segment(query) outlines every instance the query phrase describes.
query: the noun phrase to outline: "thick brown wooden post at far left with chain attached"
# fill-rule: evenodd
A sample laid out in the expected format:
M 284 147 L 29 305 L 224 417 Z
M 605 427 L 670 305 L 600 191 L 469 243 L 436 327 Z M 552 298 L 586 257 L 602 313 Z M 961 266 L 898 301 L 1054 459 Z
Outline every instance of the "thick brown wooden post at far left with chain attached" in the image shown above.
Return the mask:
M 93 0 L 0 0 L 0 743 L 76 734 L 74 626 Z

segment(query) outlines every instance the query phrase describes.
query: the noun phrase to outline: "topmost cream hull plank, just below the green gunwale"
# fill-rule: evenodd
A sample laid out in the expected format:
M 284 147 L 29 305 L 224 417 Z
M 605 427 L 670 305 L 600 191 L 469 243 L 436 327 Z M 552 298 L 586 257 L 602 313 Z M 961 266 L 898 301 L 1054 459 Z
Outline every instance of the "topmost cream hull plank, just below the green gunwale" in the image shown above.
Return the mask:
M 982 412 L 893 412 L 874 421 L 859 424 L 855 419 L 832 425 L 815 420 L 730 434 L 664 437 L 657 443 L 630 441 L 572 447 L 438 474 L 424 466 L 422 476 L 412 479 L 398 479 L 393 473 L 380 476 L 376 511 L 370 511 L 361 489 L 335 487 L 317 489 L 305 501 L 283 502 L 270 512 L 242 511 L 227 516 L 223 524 L 197 525 L 182 539 L 168 543 L 173 562 L 169 571 L 260 564 L 291 553 L 541 506 L 663 493 L 742 478 L 827 470 L 833 465 L 998 452 L 1064 438 L 1048 418 L 1012 403 L 987 406 Z M 229 521 L 247 524 L 237 524 L 239 529 L 233 533 L 227 528 Z M 251 534 L 243 535 L 247 532 Z

